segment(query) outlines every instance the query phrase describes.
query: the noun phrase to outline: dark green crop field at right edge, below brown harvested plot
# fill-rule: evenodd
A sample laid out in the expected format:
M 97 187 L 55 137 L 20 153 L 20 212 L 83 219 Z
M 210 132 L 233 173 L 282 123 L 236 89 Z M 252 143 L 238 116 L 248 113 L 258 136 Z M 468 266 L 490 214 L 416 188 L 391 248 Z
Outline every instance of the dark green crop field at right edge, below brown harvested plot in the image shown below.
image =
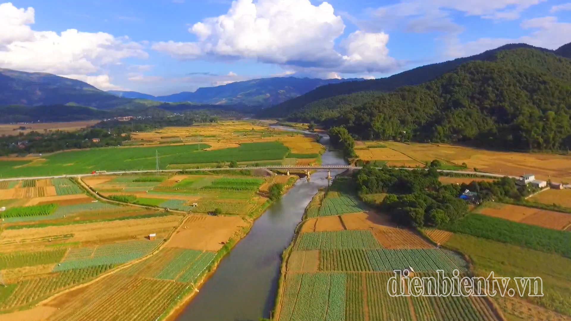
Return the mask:
M 481 214 L 469 214 L 446 230 L 571 258 L 571 233 Z

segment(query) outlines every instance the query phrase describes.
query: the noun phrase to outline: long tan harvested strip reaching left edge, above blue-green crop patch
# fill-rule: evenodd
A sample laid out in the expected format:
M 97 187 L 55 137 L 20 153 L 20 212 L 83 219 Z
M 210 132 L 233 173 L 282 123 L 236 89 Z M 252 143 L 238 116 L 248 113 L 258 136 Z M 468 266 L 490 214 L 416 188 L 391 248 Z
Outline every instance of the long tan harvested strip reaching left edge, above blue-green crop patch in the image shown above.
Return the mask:
M 10 244 L 1 244 L 0 251 L 9 251 L 14 248 L 34 248 L 49 244 L 47 239 L 53 235 L 69 235 L 73 237 L 68 242 L 102 243 L 119 240 L 132 240 L 133 236 L 143 239 L 150 233 L 156 233 L 158 237 L 166 236 L 168 232 L 179 223 L 180 216 L 161 216 L 156 218 L 127 219 L 111 222 L 73 224 L 67 226 L 47 226 L 38 228 L 23 228 L 21 230 L 5 230 L 0 234 L 0 242 L 9 241 Z M 19 243 L 34 235 L 37 242 Z M 18 242 L 18 243 L 14 243 Z

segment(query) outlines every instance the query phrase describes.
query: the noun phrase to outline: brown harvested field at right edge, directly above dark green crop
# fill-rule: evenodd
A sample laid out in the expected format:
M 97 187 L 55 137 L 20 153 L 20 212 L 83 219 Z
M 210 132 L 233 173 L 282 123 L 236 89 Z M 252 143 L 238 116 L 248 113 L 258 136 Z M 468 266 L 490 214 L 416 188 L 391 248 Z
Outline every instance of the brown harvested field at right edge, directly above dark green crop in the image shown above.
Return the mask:
M 513 222 L 553 228 L 554 230 L 565 230 L 571 224 L 571 214 L 510 204 L 497 203 L 493 204 L 493 207 L 481 208 L 477 212 Z

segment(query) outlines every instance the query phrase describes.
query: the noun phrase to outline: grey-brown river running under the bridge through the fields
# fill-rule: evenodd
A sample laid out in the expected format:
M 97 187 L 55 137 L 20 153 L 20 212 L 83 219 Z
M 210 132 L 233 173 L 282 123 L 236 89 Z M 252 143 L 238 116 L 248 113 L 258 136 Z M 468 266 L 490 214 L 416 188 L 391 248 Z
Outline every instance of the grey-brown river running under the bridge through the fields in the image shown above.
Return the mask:
M 286 127 L 287 128 L 287 127 Z M 281 128 L 280 128 L 281 129 Z M 291 129 L 288 129 L 291 130 Z M 328 145 L 328 137 L 321 143 Z M 321 155 L 323 164 L 347 164 L 335 151 Z M 331 171 L 331 175 L 340 171 Z M 278 292 L 282 253 L 313 195 L 328 185 L 327 171 L 303 178 L 258 218 L 176 321 L 258 321 L 270 318 Z

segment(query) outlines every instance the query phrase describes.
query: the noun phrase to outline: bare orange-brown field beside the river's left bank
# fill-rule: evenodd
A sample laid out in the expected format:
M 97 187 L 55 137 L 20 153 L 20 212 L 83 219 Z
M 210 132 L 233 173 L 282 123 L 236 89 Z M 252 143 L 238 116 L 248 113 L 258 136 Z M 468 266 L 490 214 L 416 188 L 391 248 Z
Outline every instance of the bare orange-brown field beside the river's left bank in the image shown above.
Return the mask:
M 222 242 L 240 233 L 247 223 L 239 216 L 190 215 L 168 240 L 167 247 L 218 251 Z

